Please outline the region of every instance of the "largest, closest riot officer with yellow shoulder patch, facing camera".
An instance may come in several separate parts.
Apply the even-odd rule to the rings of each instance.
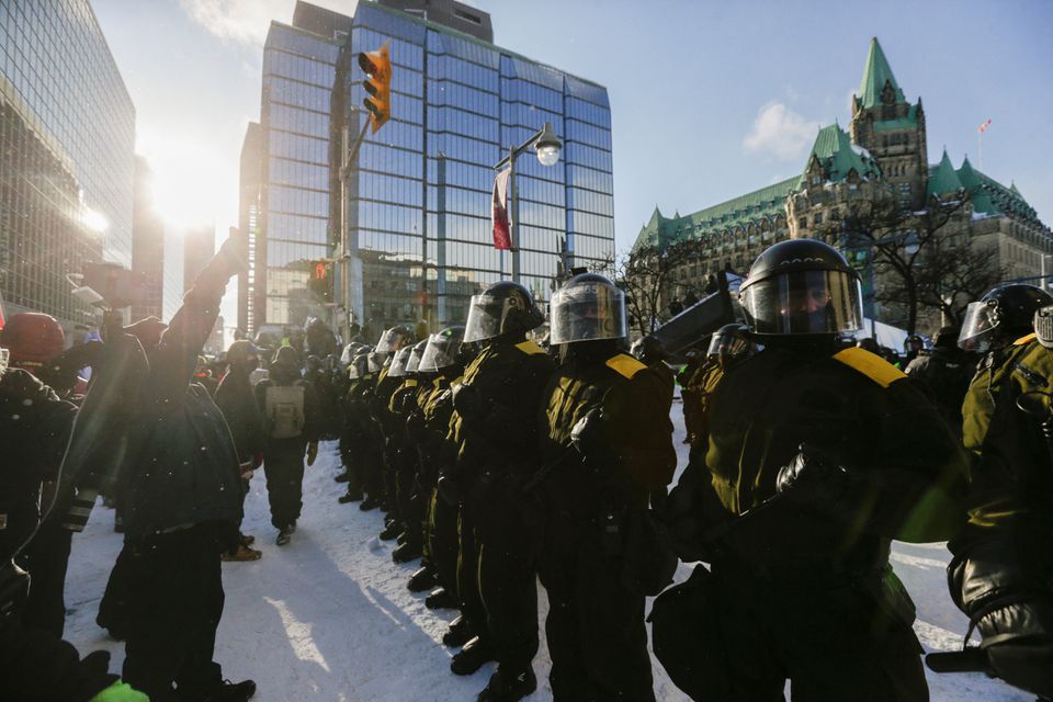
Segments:
[[[912,381],[840,341],[862,304],[833,247],[779,242],[740,290],[765,348],[712,399],[692,554],[712,571],[689,580],[693,616],[658,599],[655,653],[695,699],[782,700],[789,678],[794,700],[927,700],[890,543],[953,532],[965,457]]]

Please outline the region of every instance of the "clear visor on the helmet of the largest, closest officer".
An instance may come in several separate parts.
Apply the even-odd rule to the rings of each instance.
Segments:
[[[836,335],[863,327],[859,280],[843,271],[793,271],[759,281],[740,293],[756,333]]]

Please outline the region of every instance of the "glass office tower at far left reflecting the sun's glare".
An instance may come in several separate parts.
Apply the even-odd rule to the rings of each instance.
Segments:
[[[91,324],[65,280],[132,267],[135,109],[88,0],[0,2],[0,292]]]

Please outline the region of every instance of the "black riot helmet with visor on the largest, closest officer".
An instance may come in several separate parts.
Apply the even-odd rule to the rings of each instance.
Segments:
[[[859,273],[815,239],[768,247],[749,268],[739,302],[758,336],[833,338],[863,326]]]

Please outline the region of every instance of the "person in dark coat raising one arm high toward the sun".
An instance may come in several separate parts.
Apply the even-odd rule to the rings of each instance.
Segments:
[[[227,280],[244,267],[235,239],[199,274],[136,385],[121,476],[128,623],[124,678],[152,702],[247,700],[213,661],[223,614],[219,556],[238,543],[241,479],[223,414],[193,382]],[[121,336],[107,329],[106,342]],[[173,689],[173,683],[178,690]]]

